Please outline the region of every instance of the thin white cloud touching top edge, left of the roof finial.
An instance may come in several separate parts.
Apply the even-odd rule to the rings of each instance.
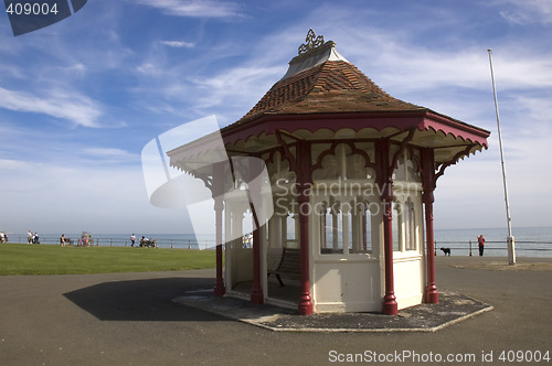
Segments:
[[[214,0],[138,0],[138,3],[160,9],[167,15],[190,18],[243,18],[235,2]]]

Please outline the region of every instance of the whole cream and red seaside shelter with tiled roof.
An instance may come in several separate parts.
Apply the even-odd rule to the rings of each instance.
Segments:
[[[282,79],[220,133],[230,168],[191,163],[210,149],[209,136],[168,152],[213,192],[215,294],[306,315],[394,315],[438,302],[436,182],[487,149],[488,131],[392,97],[310,30]],[[267,172],[256,190],[270,189],[274,213],[263,220],[251,200],[235,200],[261,176],[254,163],[236,173],[245,157]],[[255,220],[252,247],[235,235],[244,220]]]

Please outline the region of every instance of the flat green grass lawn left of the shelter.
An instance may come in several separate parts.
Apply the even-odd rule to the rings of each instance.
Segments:
[[[214,250],[0,244],[0,276],[181,271],[214,267]]]

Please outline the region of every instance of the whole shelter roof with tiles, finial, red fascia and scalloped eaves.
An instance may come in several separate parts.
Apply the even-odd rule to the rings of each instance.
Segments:
[[[240,120],[221,129],[229,153],[259,153],[279,144],[277,131],[296,139],[390,139],[435,150],[439,162],[456,161],[487,148],[489,131],[394,98],[336,50],[315,39],[289,62],[282,79]],[[413,133],[411,133],[413,131]],[[410,136],[410,137],[408,137]],[[202,139],[169,152],[203,149]],[[203,146],[203,147],[202,147]],[[177,151],[178,150],[178,151]],[[195,150],[194,150],[195,151]]]

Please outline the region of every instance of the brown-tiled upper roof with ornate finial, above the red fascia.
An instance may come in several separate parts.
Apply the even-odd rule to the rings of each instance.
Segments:
[[[233,130],[254,126],[255,121],[270,117],[279,119],[283,116],[335,114],[382,116],[404,115],[405,112],[444,117],[457,126],[465,126],[470,130],[476,129],[484,134],[489,134],[486,130],[435,112],[429,108],[392,97],[339,54],[332,41],[311,46],[294,57],[284,77],[274,84],[245,116],[223,128],[222,133],[227,136]]]

